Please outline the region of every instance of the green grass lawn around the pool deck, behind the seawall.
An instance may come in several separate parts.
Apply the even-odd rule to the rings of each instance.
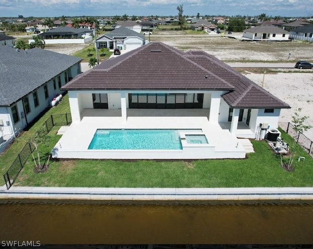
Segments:
[[[22,137],[31,136],[51,114],[69,113],[68,97],[50,108]],[[54,127],[49,146],[41,153],[49,153],[61,137]],[[282,134],[291,144],[291,137]],[[265,141],[252,141],[255,153],[246,159],[210,160],[62,160],[50,161],[45,173],[35,174],[29,157],[14,183],[15,186],[63,187],[312,187],[313,158],[296,145],[297,157],[293,172],[280,166],[280,158],[272,153]],[[0,173],[3,175],[12,164],[24,142],[14,142],[1,156]],[[2,179],[2,185],[4,184]]]

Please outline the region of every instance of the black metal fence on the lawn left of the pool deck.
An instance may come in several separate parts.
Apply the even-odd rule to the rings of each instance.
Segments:
[[[72,122],[70,113],[51,115],[43,127],[46,129],[46,133],[49,133],[54,126],[69,125]],[[14,160],[10,168],[3,175],[6,188],[9,189],[17,177],[19,176],[22,168],[24,167],[29,156],[34,152],[35,147],[31,143],[27,143],[17,158]]]

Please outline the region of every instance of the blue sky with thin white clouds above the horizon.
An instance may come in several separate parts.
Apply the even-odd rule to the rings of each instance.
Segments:
[[[313,16],[313,0],[0,0],[0,17],[176,16],[179,4],[188,16]]]

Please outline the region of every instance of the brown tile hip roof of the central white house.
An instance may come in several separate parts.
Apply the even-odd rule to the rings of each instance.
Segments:
[[[102,62],[64,90],[224,90],[233,108],[290,108],[268,91],[203,51],[149,43]]]

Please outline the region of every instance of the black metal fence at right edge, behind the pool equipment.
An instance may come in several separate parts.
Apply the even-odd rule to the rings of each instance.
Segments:
[[[293,130],[293,125],[290,122],[278,122],[278,126],[290,135],[293,139],[295,139],[296,143],[304,149],[311,158],[313,158],[313,141],[310,140],[307,136],[300,133],[298,136],[296,132]]]

